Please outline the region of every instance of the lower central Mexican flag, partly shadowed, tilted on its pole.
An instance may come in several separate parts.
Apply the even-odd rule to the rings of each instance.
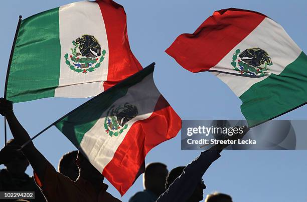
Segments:
[[[155,86],[154,65],[84,103],[56,127],[123,195],[150,149],[171,139],[181,119]]]

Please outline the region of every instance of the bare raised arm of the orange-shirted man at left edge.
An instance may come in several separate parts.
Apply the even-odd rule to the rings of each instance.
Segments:
[[[0,114],[6,116],[14,139],[19,145],[23,145],[31,139],[28,132],[16,118],[13,112],[12,102],[4,98],[0,98]],[[32,168],[35,170],[39,178],[44,179],[46,165],[49,163],[48,160],[39,150],[37,150],[32,141],[22,149],[22,152],[28,158]]]

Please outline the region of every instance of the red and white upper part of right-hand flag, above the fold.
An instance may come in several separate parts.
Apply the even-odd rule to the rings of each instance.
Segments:
[[[301,53],[284,29],[263,14],[216,11],[193,34],[180,35],[166,50],[191,72],[280,74]]]

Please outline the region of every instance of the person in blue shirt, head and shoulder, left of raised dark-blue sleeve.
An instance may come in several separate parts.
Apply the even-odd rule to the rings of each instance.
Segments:
[[[165,191],[167,166],[163,163],[150,163],[146,166],[143,175],[144,190],[135,193],[129,202],[155,202]]]

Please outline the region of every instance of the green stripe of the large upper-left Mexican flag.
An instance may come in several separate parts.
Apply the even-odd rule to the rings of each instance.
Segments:
[[[54,97],[59,85],[59,8],[22,21],[8,80],[7,98],[23,102]]]

